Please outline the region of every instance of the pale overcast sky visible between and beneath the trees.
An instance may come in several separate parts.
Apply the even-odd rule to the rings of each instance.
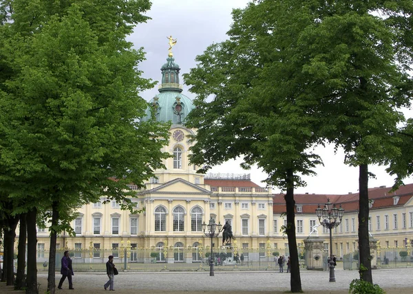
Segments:
[[[173,47],[173,57],[180,65],[180,81],[183,83],[182,74],[188,73],[195,67],[195,56],[204,52],[208,45],[224,41],[226,32],[232,23],[231,11],[233,8],[244,8],[246,0],[153,0],[151,10],[147,13],[152,19],[136,27],[134,34],[129,38],[136,47],[144,47],[147,60],[140,64],[145,78],[160,80],[160,67],[166,63],[168,54],[167,36],[177,38],[178,42]],[[150,100],[158,93],[158,86],[142,93],[142,97]],[[193,99],[188,87],[184,85],[182,94]],[[405,112],[408,117],[413,116],[413,111]],[[344,155],[341,150],[335,154],[334,148],[317,148],[315,152],[321,155],[324,167],[320,166],[315,171],[316,177],[304,177],[307,187],[297,188],[296,193],[315,194],[347,194],[357,192],[359,187],[359,170],[343,164]],[[260,181],[266,179],[266,174],[254,168],[242,170],[240,160],[224,163],[213,168],[211,172],[251,173],[253,181],[264,185]],[[376,174],[377,179],[369,179],[369,187],[386,185],[391,187],[393,178],[385,172],[384,167],[370,166],[370,172]],[[413,178],[405,183],[413,183]],[[280,192],[275,188],[275,192]]]

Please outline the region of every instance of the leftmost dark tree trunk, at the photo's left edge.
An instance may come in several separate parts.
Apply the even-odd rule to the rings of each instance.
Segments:
[[[7,247],[6,256],[6,285],[14,285],[14,238],[16,238],[16,227],[19,223],[19,218],[16,216],[8,216],[8,227],[4,231],[4,247]]]

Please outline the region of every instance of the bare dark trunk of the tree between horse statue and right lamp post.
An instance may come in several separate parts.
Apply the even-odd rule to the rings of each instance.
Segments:
[[[287,192],[284,196],[287,210],[288,247],[290,249],[290,287],[292,293],[302,292],[301,277],[299,275],[297,238],[295,236],[295,200],[294,200],[294,174],[293,170],[287,170]]]

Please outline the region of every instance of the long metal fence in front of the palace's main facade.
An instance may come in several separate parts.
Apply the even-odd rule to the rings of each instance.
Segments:
[[[278,270],[275,249],[213,249],[215,271]],[[60,271],[64,249],[56,251],[56,271]],[[288,256],[288,250],[277,249]],[[108,256],[121,271],[209,271],[211,251],[198,249],[124,249],[124,250],[69,250],[74,271],[106,271]],[[49,251],[37,251],[39,271],[49,266]],[[300,265],[304,267],[304,260]]]

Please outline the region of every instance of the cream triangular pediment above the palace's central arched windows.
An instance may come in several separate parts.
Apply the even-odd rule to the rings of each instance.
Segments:
[[[145,194],[211,194],[211,191],[195,185],[189,181],[178,178],[159,185],[151,190],[146,190]]]

